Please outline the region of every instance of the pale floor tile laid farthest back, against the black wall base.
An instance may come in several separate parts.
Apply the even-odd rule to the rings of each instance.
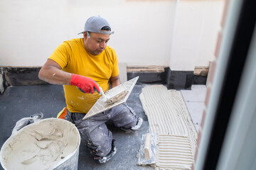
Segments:
[[[204,102],[206,99],[205,85],[192,85],[191,90],[181,90],[185,102]]]

